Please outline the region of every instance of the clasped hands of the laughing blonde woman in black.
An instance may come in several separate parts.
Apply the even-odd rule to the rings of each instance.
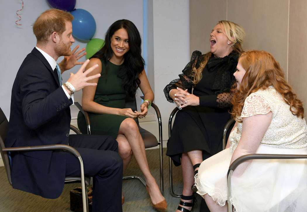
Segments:
[[[174,95],[174,101],[180,108],[184,108],[188,105],[199,105],[199,97],[188,93],[188,89],[183,90],[181,88],[177,88],[177,92]]]

